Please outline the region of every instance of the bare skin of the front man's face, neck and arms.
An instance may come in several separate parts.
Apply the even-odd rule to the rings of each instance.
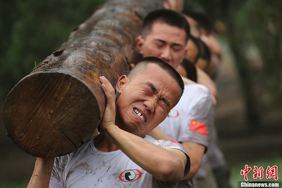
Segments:
[[[187,164],[186,154],[178,149],[166,150],[143,137],[154,129],[176,105],[181,96],[181,88],[158,65],[148,64],[147,66],[143,74],[131,80],[125,75],[119,78],[116,91],[120,96],[117,101],[115,90],[110,82],[104,76],[100,77],[107,105],[98,127],[100,134],[95,137],[94,145],[98,150],[104,152],[120,149],[134,163],[151,173],[156,179],[178,182],[183,178]],[[149,91],[150,86],[146,85],[147,81],[151,82],[158,92]],[[164,104],[164,98],[170,103],[168,107]],[[116,114],[116,106],[119,106],[121,112],[124,112],[121,114],[122,117],[119,117],[120,113]],[[142,110],[146,123],[134,113],[134,107]],[[128,127],[128,124],[134,126]],[[132,130],[139,136],[123,129]],[[154,153],[153,158],[152,153]],[[54,158],[37,158],[28,187],[49,187],[53,165]]]

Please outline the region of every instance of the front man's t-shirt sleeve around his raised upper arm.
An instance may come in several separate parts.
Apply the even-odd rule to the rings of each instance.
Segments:
[[[162,148],[164,148],[166,150],[167,149],[179,149],[184,154],[186,154],[186,156],[187,156],[187,164],[186,164],[185,169],[184,169],[184,175],[183,175],[182,180],[185,179],[187,177],[188,173],[190,172],[190,167],[191,167],[190,165],[191,164],[190,164],[190,157],[188,156],[187,151],[184,148],[184,146],[181,145],[179,142],[176,142],[174,140],[166,140],[166,141],[159,140],[159,141],[163,141],[163,142],[161,142],[161,144],[159,146],[161,146]]]

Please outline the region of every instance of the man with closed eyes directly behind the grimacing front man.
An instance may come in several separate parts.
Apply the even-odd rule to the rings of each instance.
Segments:
[[[177,68],[186,55],[189,36],[189,25],[183,15],[172,10],[155,10],[144,19],[141,35],[136,39],[137,50],[143,57],[154,55]],[[179,183],[182,187],[193,187],[191,180],[208,147],[213,118],[213,100],[208,88],[189,84],[185,85],[176,108],[160,124],[164,132],[156,129],[150,133],[156,139],[172,138],[182,142],[187,149],[191,170],[185,181]]]

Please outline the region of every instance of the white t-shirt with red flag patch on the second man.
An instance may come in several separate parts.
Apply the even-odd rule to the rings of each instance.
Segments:
[[[185,85],[177,105],[158,127],[178,142],[194,142],[207,149],[214,127],[211,93],[200,84]],[[194,187],[192,181],[181,181],[177,187]]]

